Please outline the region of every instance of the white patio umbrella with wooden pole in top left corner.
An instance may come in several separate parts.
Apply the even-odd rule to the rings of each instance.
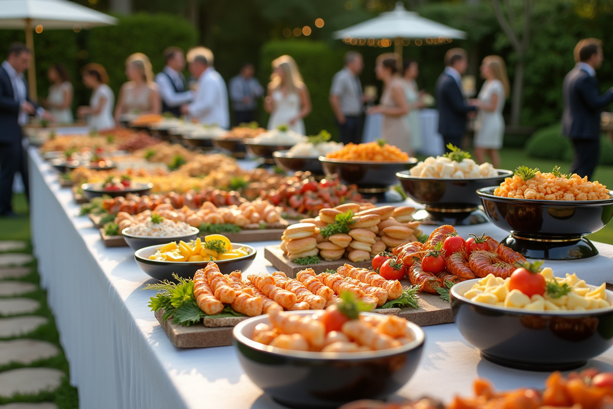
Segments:
[[[117,19],[67,0],[0,0],[0,29],[25,29],[26,45],[32,50],[28,69],[29,92],[36,99],[36,67],[32,29],[74,29],[116,25]],[[58,44],[61,47],[61,44]]]

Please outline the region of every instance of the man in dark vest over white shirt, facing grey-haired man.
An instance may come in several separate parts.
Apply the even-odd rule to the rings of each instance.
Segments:
[[[183,76],[185,56],[178,47],[168,47],[164,50],[166,66],[155,77],[162,99],[162,112],[170,112],[175,117],[181,115],[181,105],[192,101],[193,93],[188,90],[188,84]]]

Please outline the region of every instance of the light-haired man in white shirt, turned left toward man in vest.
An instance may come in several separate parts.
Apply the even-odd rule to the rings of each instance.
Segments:
[[[228,129],[230,112],[226,82],[213,68],[213,53],[205,47],[192,48],[188,52],[189,72],[198,78],[194,101],[181,106],[181,113],[189,114],[200,123]]]

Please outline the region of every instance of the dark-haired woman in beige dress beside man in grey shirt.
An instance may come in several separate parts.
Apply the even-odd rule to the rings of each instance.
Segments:
[[[406,104],[402,78],[398,76],[398,60],[395,54],[379,55],[375,67],[376,77],[383,81],[383,94],[379,105],[372,107],[368,113],[382,113],[381,139],[387,140],[404,152],[411,152],[411,131],[405,120],[409,112]]]

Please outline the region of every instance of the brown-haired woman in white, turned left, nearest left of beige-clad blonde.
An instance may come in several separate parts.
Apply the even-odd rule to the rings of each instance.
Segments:
[[[83,84],[91,88],[92,93],[89,98],[89,106],[78,108],[79,117],[87,117],[87,124],[92,131],[115,128],[115,120],[113,120],[115,95],[107,85],[109,82],[107,71],[100,64],[91,63],[83,67],[81,73]]]

